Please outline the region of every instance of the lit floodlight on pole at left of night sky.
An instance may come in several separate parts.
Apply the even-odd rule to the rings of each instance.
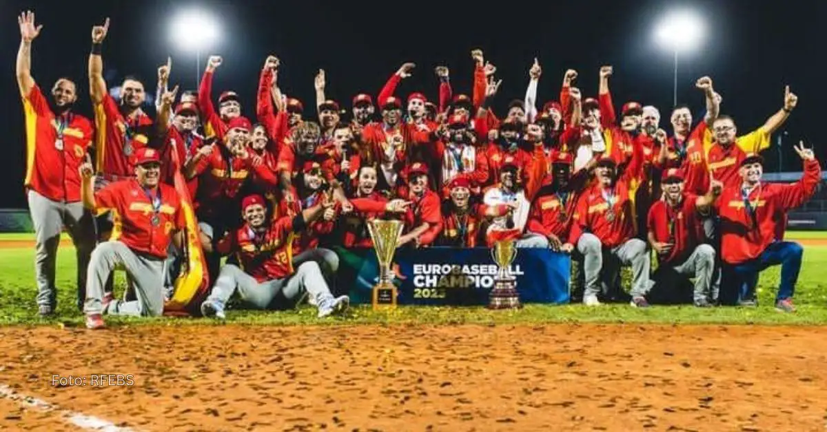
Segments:
[[[218,40],[218,21],[203,9],[181,11],[170,23],[170,38],[180,50],[195,54],[195,88],[201,82],[201,51]]]

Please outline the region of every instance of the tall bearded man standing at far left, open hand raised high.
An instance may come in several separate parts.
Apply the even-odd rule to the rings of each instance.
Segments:
[[[95,243],[92,215],[80,202],[79,166],[93,137],[92,122],[72,111],[77,88],[60,78],[51,89],[52,102],[31,77],[31,42],[40,35],[33,12],[17,17],[17,85],[26,115],[26,197],[35,227],[37,306],[42,316],[55,311],[55,261],[65,226],[77,255],[78,306],[86,293],[86,267]]]

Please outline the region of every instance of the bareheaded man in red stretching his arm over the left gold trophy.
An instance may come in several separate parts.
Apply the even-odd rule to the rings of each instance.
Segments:
[[[367,224],[385,213],[404,213],[410,202],[403,200],[388,201],[376,192],[376,169],[372,165],[362,165],[357,172],[356,193],[349,197],[352,209],[342,209],[339,222],[342,245],[346,248],[372,248]]]

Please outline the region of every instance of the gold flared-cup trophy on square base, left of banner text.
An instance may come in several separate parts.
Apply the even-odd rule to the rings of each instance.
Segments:
[[[394,259],[396,242],[399,241],[404,224],[402,221],[374,219],[368,222],[367,228],[379,262],[379,282],[373,286],[373,309],[393,309],[396,307],[396,286],[390,263]]]

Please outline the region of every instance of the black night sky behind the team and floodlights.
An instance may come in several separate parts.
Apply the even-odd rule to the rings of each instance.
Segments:
[[[214,97],[225,89],[242,97],[243,111],[255,121],[254,96],[266,55],[282,60],[280,87],[299,97],[305,116],[314,116],[313,76],[327,72],[327,97],[350,107],[353,95],[375,95],[404,61],[417,64],[414,76],[399,87],[398,95],[423,91],[437,97],[433,67],[451,69],[454,92],[470,93],[473,62],[469,52],[479,47],[504,80],[495,108],[502,114],[514,98],[523,98],[528,68],[537,56],[543,65],[539,103],[557,99],[562,74],[580,73],[576,85],[585,96],[596,96],[601,64],[614,66],[611,88],[614,102],[637,100],[661,110],[661,126],[670,130],[672,107],[672,55],[653,41],[657,17],[680,7],[696,9],[706,20],[705,41],[691,55],[682,56],[678,75],[678,101],[689,103],[696,116],[703,96],[694,88],[696,78],[709,74],[724,97],[721,112],[733,116],[739,131],[762,125],[782,107],[784,84],[799,96],[799,104],[782,127],[785,138],[784,169],[799,170],[790,148],[804,138],[825,158],[825,145],[814,140],[823,124],[816,101],[825,101],[823,31],[827,2],[695,1],[636,2],[321,2],[275,1],[18,1],[0,2],[0,59],[7,68],[0,76],[2,147],[6,166],[0,181],[7,185],[0,207],[26,207],[22,182],[25,141],[22,104],[14,63],[20,43],[17,15],[31,9],[41,36],[33,45],[32,74],[43,88],[68,76],[79,83],[77,109],[91,115],[88,99],[87,60],[94,24],[112,19],[103,47],[109,87],[125,74],[138,74],[154,93],[157,67],[173,58],[171,81],[184,89],[196,88],[195,56],[177,50],[170,42],[169,21],[179,9],[198,5],[221,21],[222,38],[210,54],[219,54]],[[116,6],[117,5],[117,6]],[[759,6],[761,5],[761,6]],[[208,53],[202,55],[203,61]],[[773,136],[773,145],[777,136]],[[767,171],[777,170],[777,151],[771,149]]]

